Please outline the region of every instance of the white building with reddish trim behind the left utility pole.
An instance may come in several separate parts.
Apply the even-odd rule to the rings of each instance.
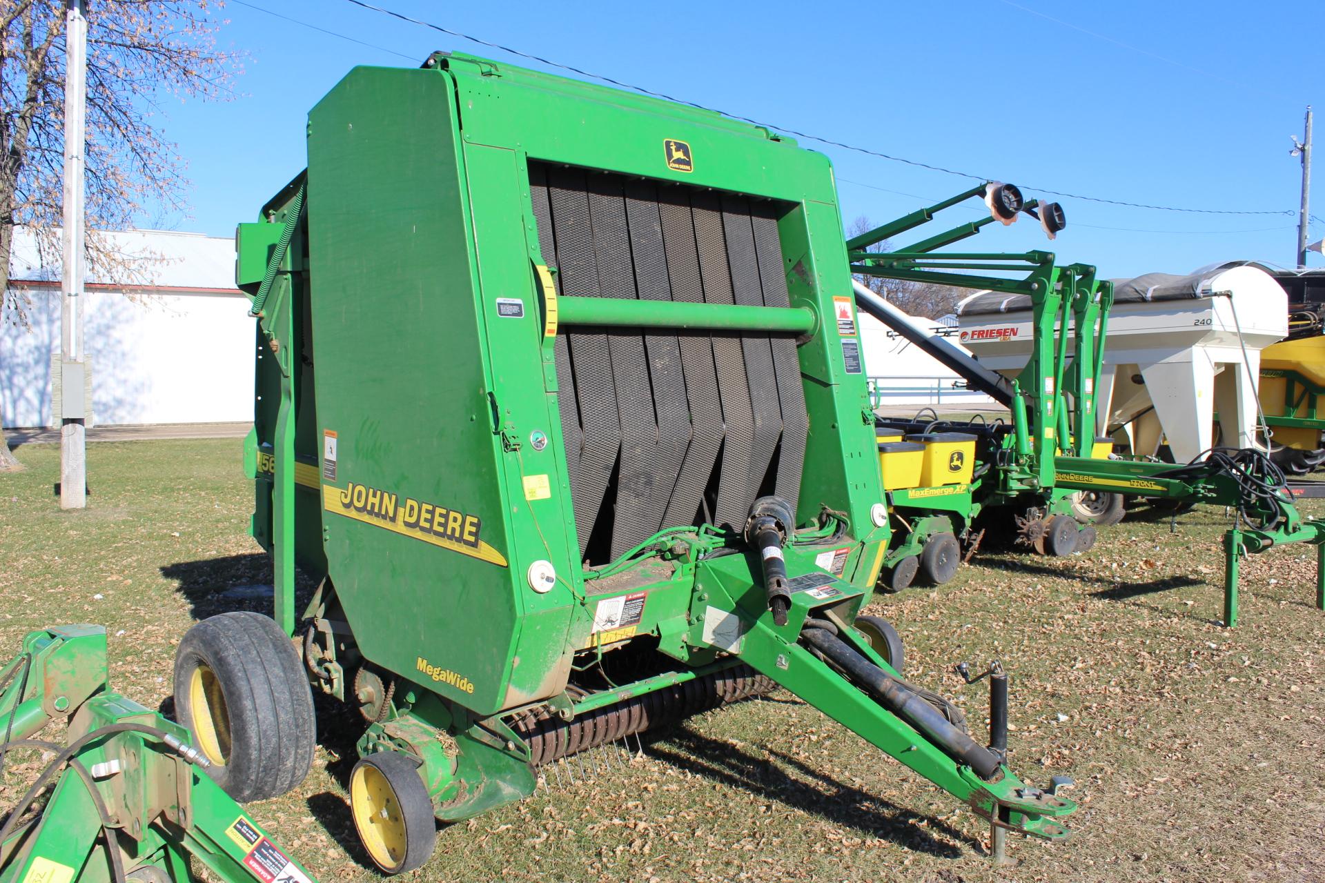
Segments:
[[[129,267],[118,275],[131,282],[87,282],[93,422],[252,421],[256,332],[235,287],[235,241],[162,230],[102,236]],[[16,233],[9,287],[26,322],[8,303],[0,312],[0,418],[8,428],[60,424],[50,384],[60,256],[40,252],[29,230]]]

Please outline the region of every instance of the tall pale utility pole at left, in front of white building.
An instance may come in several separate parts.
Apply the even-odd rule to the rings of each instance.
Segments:
[[[60,304],[60,508],[87,504],[83,408],[83,151],[87,140],[87,4],[65,13],[64,293]]]

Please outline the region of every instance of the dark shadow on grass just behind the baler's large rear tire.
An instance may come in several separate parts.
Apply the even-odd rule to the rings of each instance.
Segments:
[[[189,602],[195,620],[231,610],[273,614],[272,559],[261,552],[176,561],[163,565],[160,572],[175,581],[175,590]],[[297,612],[303,610],[314,588],[311,580],[297,572]]]

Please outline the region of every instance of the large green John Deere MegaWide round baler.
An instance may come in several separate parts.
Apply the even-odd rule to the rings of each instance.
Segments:
[[[772,684],[1000,834],[1065,835],[1075,805],[857,620],[889,527],[823,156],[445,54],[355,69],[307,144],[238,230],[252,530],[305,674],[363,714],[378,864],[417,867],[435,817],[530,794],[542,764]],[[321,580],[303,610],[295,564]],[[264,703],[298,686],[248,690],[252,637],[197,629],[212,680],[176,680],[182,715],[229,745],[229,788],[289,788],[311,723]]]

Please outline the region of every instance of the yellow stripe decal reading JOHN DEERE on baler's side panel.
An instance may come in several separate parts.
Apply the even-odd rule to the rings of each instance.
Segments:
[[[480,561],[506,567],[502,553],[478,539],[481,523],[474,515],[420,503],[409,496],[400,500],[396,494],[352,482],[344,488],[323,485],[322,508]]]

